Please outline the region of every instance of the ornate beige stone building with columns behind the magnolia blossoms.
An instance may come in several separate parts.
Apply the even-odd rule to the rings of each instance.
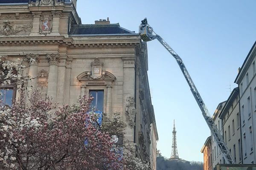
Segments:
[[[23,54],[36,59],[24,71],[35,78],[28,87],[41,89],[58,105],[91,94],[103,121],[119,111],[128,124],[124,140],[156,169],[147,44],[139,34],[109,19],[82,24],[76,0],[0,0],[0,55],[15,60]],[[9,88],[1,90],[6,104],[16,95],[15,87]]]

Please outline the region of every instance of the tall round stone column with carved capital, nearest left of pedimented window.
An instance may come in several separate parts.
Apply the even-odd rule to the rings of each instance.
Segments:
[[[47,54],[49,61],[49,77],[47,95],[52,97],[52,102],[56,101],[57,94],[57,78],[58,78],[58,62],[60,60],[58,54]]]

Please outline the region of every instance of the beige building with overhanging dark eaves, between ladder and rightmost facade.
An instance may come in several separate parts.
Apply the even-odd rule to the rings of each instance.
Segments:
[[[223,121],[224,142],[227,144],[236,164],[242,164],[239,88],[234,88],[219,117]],[[222,163],[225,163],[224,158]]]

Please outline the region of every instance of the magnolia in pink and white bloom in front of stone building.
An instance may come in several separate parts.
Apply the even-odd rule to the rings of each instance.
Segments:
[[[2,71],[1,83],[19,84],[29,79],[17,76],[21,64],[8,62],[12,67],[5,62],[0,62],[7,70]],[[11,74],[14,70],[16,73]],[[113,135],[125,135],[120,114],[113,113],[113,119],[100,125],[97,116],[89,112],[92,100],[83,96],[76,105],[55,108],[49,97],[36,90],[29,96],[23,91],[11,107],[2,106],[0,169],[150,170],[148,164],[134,157],[133,147],[113,140]]]

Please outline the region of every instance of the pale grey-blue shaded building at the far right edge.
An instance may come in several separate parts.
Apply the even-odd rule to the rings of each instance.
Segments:
[[[241,143],[243,164],[256,164],[256,42],[239,68],[235,83],[239,86]]]

